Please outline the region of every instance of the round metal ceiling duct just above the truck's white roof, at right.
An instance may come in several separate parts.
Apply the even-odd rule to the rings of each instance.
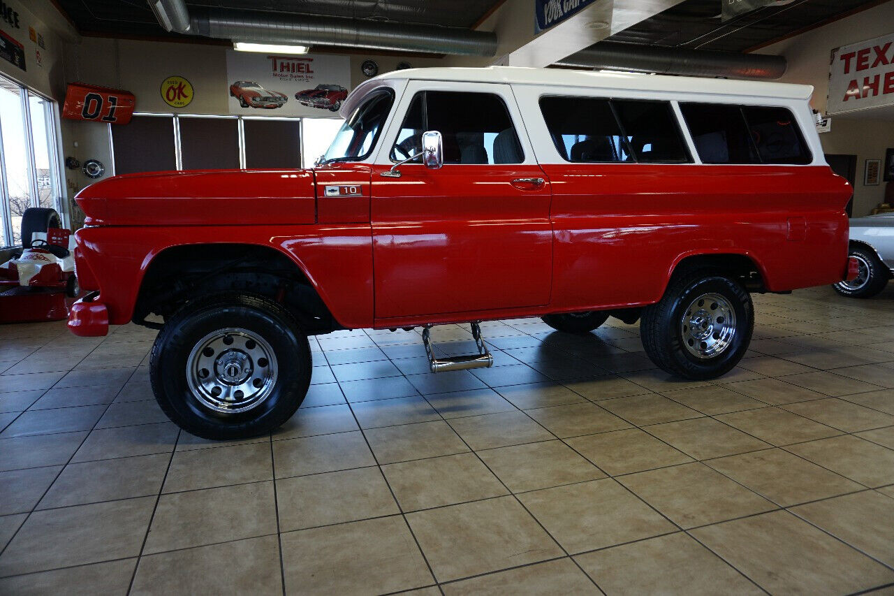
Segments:
[[[601,41],[555,64],[574,68],[739,79],[779,79],[788,68],[785,57],[780,55],[640,46],[617,41]]]

